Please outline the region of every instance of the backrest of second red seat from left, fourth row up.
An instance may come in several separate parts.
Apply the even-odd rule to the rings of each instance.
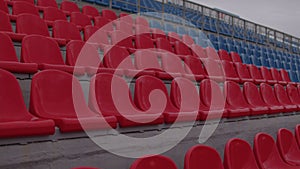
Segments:
[[[28,35],[50,36],[47,24],[38,16],[21,14],[17,17],[17,32]]]

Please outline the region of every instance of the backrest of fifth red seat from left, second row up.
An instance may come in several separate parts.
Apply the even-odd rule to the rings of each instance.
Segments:
[[[172,103],[182,112],[198,112],[200,97],[195,84],[183,77],[173,79],[170,98]],[[195,116],[196,120],[196,116]]]

